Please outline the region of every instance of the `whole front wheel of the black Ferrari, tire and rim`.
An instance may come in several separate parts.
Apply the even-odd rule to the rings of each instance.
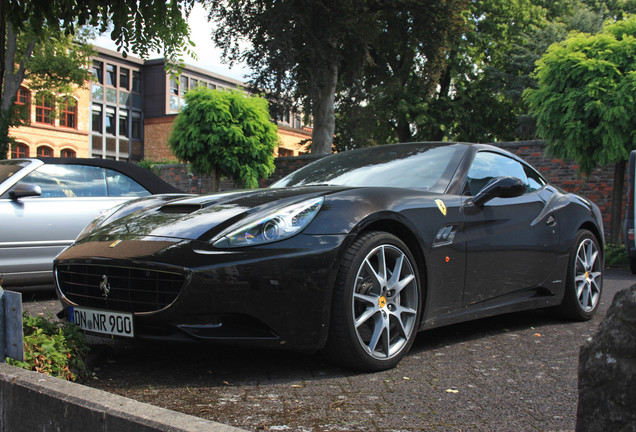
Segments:
[[[397,365],[419,327],[419,280],[415,259],[400,239],[380,231],[359,237],[338,271],[327,356],[365,371]]]

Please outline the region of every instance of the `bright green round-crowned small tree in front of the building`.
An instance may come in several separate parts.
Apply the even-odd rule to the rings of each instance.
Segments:
[[[168,143],[195,172],[213,175],[214,191],[221,176],[254,188],[274,172],[279,139],[266,99],[199,87],[188,91],[185,100]]]

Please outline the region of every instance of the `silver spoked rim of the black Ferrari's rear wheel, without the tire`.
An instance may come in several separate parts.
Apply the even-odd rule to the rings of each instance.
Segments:
[[[596,308],[601,296],[601,260],[596,243],[584,239],[576,251],[574,283],[579,305],[585,312]]]

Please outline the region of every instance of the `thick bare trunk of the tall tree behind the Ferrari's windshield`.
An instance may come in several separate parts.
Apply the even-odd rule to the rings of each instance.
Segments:
[[[324,73],[318,76],[316,97],[313,100],[314,130],[311,136],[313,154],[331,153],[333,135],[336,130],[334,104],[336,84],[338,82],[338,64],[336,61],[324,65]]]

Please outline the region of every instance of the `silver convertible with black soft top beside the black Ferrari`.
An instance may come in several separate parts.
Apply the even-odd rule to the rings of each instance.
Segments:
[[[178,193],[150,171],[104,159],[0,161],[0,280],[53,286],[53,258],[100,213],[135,197]]]

